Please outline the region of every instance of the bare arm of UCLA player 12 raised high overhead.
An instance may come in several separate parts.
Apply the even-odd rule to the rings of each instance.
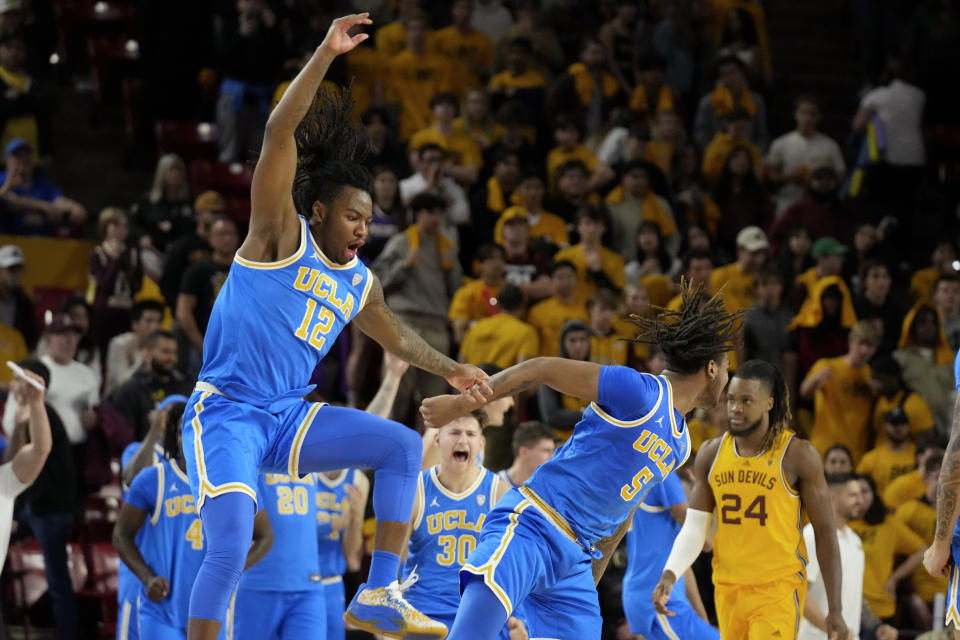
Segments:
[[[366,33],[354,36],[348,34],[356,25],[372,24],[368,15],[358,13],[333,21],[323,42],[290,83],[279,104],[270,114],[250,189],[249,237],[276,240],[285,225],[291,228],[294,226],[292,223],[296,221],[296,209],[291,196],[293,177],[297,170],[297,143],[294,132],[310,110],[317,89],[333,59],[347,53],[369,37]],[[308,212],[304,214],[309,215]]]

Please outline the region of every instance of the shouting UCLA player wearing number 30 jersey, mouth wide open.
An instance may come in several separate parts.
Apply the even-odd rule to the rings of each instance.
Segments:
[[[476,462],[483,451],[484,413],[474,411],[434,436],[440,463],[420,474],[413,503],[407,601],[434,620],[453,623],[460,604],[460,568],[477,546],[483,521],[509,485]],[[526,639],[511,618],[500,637]]]

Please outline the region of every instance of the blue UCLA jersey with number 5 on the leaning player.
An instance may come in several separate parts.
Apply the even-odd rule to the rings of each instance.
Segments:
[[[603,367],[597,397],[573,436],[520,489],[560,516],[587,548],[612,535],[690,455],[684,418],[663,376]]]

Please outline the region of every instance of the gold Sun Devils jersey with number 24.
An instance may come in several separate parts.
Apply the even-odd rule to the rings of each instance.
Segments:
[[[806,578],[800,494],[783,476],[783,456],[792,438],[785,431],[768,451],[747,458],[737,453],[733,436],[723,434],[709,476],[717,503],[715,583]]]

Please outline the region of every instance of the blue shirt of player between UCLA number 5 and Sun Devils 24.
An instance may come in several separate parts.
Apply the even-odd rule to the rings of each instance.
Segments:
[[[680,523],[670,515],[670,507],[686,502],[683,486],[676,474],[668,475],[661,484],[650,489],[640,504],[630,530],[627,532],[627,572],[623,576],[624,600],[629,596],[631,605],[649,613],[656,614],[650,594],[660,581],[667,556],[673,548],[673,541],[680,532]],[[670,601],[686,600],[683,576],[670,593]],[[649,609],[649,611],[647,611]],[[642,629],[633,629],[642,633]]]

